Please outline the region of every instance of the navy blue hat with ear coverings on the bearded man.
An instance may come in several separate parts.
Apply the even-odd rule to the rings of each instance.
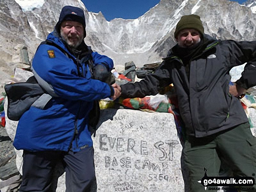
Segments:
[[[84,29],[86,27],[84,11],[79,7],[72,7],[68,5],[62,8],[58,23],[55,26],[58,33],[60,33],[61,23],[65,20],[77,21],[83,25]],[[86,32],[84,34],[84,37],[85,36]]]

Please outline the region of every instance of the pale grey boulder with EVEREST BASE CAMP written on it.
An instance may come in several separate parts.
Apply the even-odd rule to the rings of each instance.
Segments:
[[[17,121],[6,121],[13,139]],[[184,191],[182,146],[172,114],[106,109],[98,126],[93,138],[98,191]],[[22,174],[22,150],[16,152]],[[57,192],[65,192],[65,174],[58,179]]]

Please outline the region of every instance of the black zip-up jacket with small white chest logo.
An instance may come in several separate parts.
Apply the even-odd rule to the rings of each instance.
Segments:
[[[187,135],[198,138],[247,122],[239,99],[229,93],[229,71],[248,62],[237,83],[244,88],[256,85],[256,41],[215,40],[205,36],[200,46],[203,49],[188,63],[189,76],[174,46],[154,74],[140,82],[122,85],[122,96],[155,95],[160,88],[173,83]]]

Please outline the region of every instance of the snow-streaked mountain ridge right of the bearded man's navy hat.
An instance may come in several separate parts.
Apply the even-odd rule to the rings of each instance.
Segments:
[[[161,0],[135,20],[108,22],[101,13],[89,12],[86,41],[117,64],[157,62],[175,44],[173,34],[182,15],[201,16],[205,33],[216,38],[253,40],[256,15],[251,9],[229,0]]]

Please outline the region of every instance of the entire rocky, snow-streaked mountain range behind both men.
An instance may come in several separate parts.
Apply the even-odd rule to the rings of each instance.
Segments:
[[[229,0],[161,0],[135,20],[106,21],[101,12],[88,12],[80,0],[0,0],[1,60],[12,60],[14,47],[28,47],[30,58],[45,40],[61,8],[72,5],[85,11],[85,42],[94,51],[112,57],[115,64],[134,61],[137,66],[159,62],[175,44],[174,30],[182,15],[198,14],[205,33],[233,40],[256,39],[256,1],[244,5]]]

